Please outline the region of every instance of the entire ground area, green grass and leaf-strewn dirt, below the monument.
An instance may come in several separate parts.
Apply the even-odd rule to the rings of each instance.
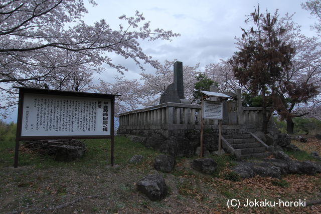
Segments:
[[[307,212],[316,213],[321,205],[307,207],[245,207],[228,208],[229,199],[254,201],[314,200],[321,197],[321,174],[291,174],[275,179],[253,177],[239,180],[231,173],[235,165],[228,155],[213,156],[218,169],[204,175],[190,168],[193,158],[177,158],[172,173],[153,169],[159,153],[121,136],[115,137],[115,164],[110,163],[109,140],[86,140],[87,153],[76,161],[57,162],[20,149],[18,169],[14,169],[14,141],[0,141],[0,213],[195,213],[195,212]],[[319,141],[295,144],[308,152],[321,152]],[[129,164],[130,157],[141,154],[139,164]],[[306,159],[302,154],[292,158]],[[136,182],[144,175],[161,173],[169,187],[169,195],[161,201],[150,201],[136,190]],[[64,206],[63,204],[67,204]],[[63,205],[63,206],[62,206]]]

